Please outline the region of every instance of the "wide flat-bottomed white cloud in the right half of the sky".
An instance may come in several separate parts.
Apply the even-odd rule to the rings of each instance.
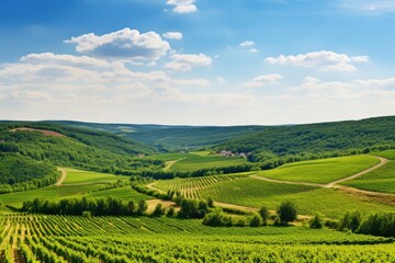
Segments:
[[[357,68],[353,62],[366,62],[369,61],[369,57],[349,57],[346,54],[321,50],[296,56],[280,55],[279,57],[268,57],[264,61],[273,65],[317,68],[319,70],[354,71]]]

